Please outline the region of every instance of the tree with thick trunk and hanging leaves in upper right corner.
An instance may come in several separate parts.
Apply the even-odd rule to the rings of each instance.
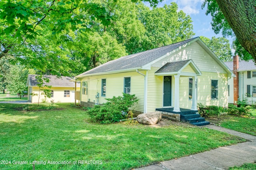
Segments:
[[[256,59],[256,12],[255,0],[205,0],[202,8],[207,5],[206,15],[212,15],[212,28],[217,34],[222,29],[223,35],[236,35],[238,42]],[[232,31],[231,31],[231,29]],[[238,45],[236,45],[238,46]],[[244,50],[237,50],[245,52]],[[248,54],[240,54],[248,60]],[[255,60],[256,61],[256,60]]]

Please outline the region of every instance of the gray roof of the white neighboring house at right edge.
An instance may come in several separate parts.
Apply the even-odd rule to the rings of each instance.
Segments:
[[[234,70],[234,67],[233,67],[233,62],[230,61],[230,62],[224,62],[226,64],[226,66],[228,66],[228,68],[230,70]],[[254,64],[254,61],[253,60],[249,60],[249,61],[239,61],[239,64],[238,64],[238,71],[246,71],[246,70],[256,70],[256,66]]]

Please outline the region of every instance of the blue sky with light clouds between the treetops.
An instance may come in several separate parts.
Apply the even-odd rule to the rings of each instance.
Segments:
[[[194,37],[205,36],[212,39],[215,37],[222,37],[222,34],[215,34],[212,30],[211,21],[212,16],[208,14],[206,16],[206,7],[202,9],[202,4],[204,0],[163,0],[158,3],[158,7],[163,7],[164,4],[170,5],[171,2],[176,2],[179,9],[183,10],[186,15],[190,15],[193,21]],[[150,6],[148,2],[145,3]]]

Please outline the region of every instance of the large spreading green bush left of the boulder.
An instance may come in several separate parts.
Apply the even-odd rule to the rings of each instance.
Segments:
[[[130,95],[124,93],[123,96],[114,96],[106,100],[108,102],[102,105],[96,105],[94,108],[86,111],[93,122],[100,122],[102,124],[119,122],[121,119],[126,118],[129,108],[138,102],[135,94]]]

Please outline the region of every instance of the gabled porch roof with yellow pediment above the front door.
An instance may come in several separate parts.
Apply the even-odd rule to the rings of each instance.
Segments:
[[[189,69],[191,68],[191,69]],[[202,72],[196,64],[190,60],[168,62],[155,72],[156,76],[180,75],[180,76],[201,76]]]

